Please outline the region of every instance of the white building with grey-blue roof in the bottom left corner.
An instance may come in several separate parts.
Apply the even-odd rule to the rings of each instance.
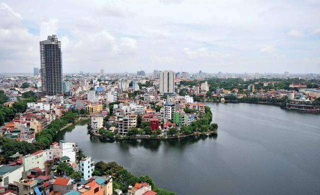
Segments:
[[[0,165],[0,187],[7,186],[13,181],[19,181],[22,177],[23,166]]]

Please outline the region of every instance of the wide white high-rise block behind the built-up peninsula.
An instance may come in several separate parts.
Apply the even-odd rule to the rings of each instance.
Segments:
[[[174,93],[174,71],[164,70],[160,72],[160,93]]]

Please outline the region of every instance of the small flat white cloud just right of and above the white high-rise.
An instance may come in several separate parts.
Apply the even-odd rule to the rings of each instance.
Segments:
[[[210,51],[206,47],[201,47],[195,50],[190,48],[183,48],[183,52],[191,59],[194,58],[216,58],[216,57],[230,57],[229,53],[219,53]]]

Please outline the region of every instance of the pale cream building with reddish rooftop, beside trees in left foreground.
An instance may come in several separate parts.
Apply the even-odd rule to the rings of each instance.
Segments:
[[[35,167],[44,168],[46,161],[46,153],[43,150],[38,150],[34,153],[27,154],[22,157],[23,170],[29,170]]]

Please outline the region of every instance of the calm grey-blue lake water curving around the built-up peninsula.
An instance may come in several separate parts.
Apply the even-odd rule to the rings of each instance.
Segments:
[[[95,161],[149,174],[177,194],[320,194],[320,116],[277,106],[207,103],[217,135],[106,142],[77,124],[58,139]]]

